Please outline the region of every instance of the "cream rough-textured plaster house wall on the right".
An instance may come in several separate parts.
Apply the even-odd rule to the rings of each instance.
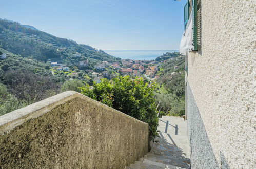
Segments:
[[[215,157],[255,168],[255,6],[201,1],[202,50],[188,55],[188,81]]]

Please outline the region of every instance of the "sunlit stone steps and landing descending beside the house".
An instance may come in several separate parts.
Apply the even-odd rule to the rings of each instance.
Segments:
[[[151,151],[128,168],[190,168],[187,121],[180,117],[162,116],[158,143],[150,143]]]

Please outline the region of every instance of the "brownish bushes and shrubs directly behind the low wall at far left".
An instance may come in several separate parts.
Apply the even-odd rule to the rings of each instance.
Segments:
[[[29,71],[8,71],[4,83],[0,83],[0,115],[53,96],[60,88],[52,77]]]

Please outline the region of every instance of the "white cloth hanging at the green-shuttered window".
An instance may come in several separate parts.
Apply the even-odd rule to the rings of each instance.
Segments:
[[[190,13],[186,31],[183,33],[180,44],[180,54],[187,55],[193,49],[193,12]]]

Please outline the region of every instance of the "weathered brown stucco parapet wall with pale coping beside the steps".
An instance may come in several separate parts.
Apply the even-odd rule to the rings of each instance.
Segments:
[[[148,153],[148,124],[73,91],[0,116],[0,131],[3,168],[124,168]]]

